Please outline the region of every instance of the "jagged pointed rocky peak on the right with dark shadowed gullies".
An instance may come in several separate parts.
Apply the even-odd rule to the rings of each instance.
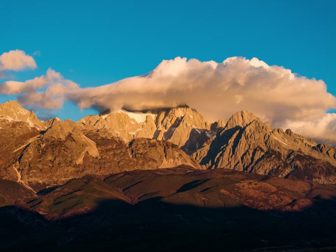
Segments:
[[[336,183],[335,148],[316,144],[289,129],[272,129],[246,111],[233,114],[224,129],[193,157],[210,169]]]

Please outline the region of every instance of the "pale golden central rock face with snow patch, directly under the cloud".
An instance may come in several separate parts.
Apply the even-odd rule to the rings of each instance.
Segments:
[[[87,129],[105,129],[125,142],[136,138],[167,140],[187,153],[195,151],[199,143],[213,136],[210,124],[188,106],[143,112],[107,112],[86,116],[79,123]]]

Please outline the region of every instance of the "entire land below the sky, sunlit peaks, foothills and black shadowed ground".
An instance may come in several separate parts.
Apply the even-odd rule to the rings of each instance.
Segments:
[[[335,251],[335,197],[336,148],[247,111],[0,104],[1,251]]]

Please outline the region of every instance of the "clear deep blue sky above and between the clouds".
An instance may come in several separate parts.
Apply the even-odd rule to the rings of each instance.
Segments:
[[[2,0],[0,9],[0,54],[20,49],[38,66],[13,72],[13,80],[51,67],[81,87],[98,86],[175,56],[217,62],[245,56],[322,79],[336,94],[333,0]],[[12,98],[0,95],[0,102]],[[77,120],[94,111],[66,103],[53,113]]]

